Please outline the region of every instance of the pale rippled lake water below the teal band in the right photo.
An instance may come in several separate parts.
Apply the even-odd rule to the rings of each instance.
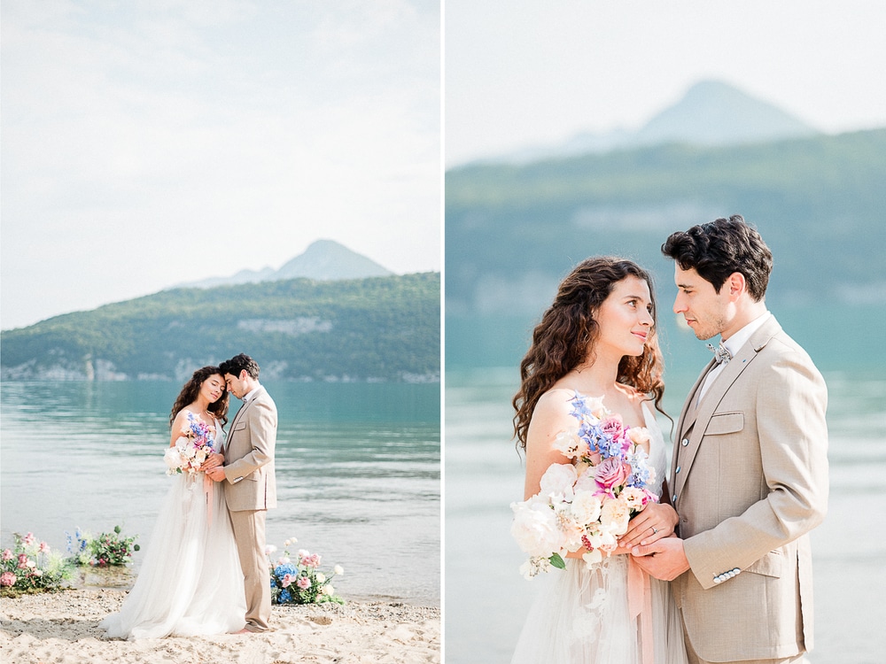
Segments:
[[[831,493],[828,518],[812,533],[812,664],[886,660],[884,373],[825,372]],[[676,418],[695,374],[666,378],[665,408]],[[526,581],[517,571],[524,557],[509,532],[509,504],[523,499],[524,464],[511,440],[517,380],[516,368],[447,369],[447,664],[509,662],[540,588],[540,580]],[[670,423],[661,424],[667,434]]]

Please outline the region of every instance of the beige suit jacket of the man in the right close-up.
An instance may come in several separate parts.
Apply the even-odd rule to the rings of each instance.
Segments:
[[[704,660],[812,649],[809,531],[828,506],[828,392],[774,317],[680,413],[668,486],[690,570],[672,583]]]

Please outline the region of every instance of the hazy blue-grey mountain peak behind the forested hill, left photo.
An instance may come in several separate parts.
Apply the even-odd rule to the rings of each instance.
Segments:
[[[279,282],[284,279],[305,277],[320,282],[342,279],[363,279],[373,276],[390,276],[390,270],[374,260],[351,251],[334,240],[315,240],[304,253],[289,260],[279,270],[264,267],[260,270],[241,270],[228,277],[210,277],[199,282],[183,283],[175,288],[207,289],[215,286],[232,286],[238,283]]]

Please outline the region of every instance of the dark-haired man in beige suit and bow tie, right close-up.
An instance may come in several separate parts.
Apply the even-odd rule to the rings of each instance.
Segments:
[[[812,650],[809,531],[828,505],[828,393],[766,310],[772,253],[741,216],[671,235],[681,313],[715,359],[680,413],[668,486],[680,537],[634,547],[672,589],[689,661],[800,662]]]

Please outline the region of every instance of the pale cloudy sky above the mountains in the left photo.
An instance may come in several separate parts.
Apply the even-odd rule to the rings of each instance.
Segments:
[[[430,0],[3,0],[0,327],[330,238],[440,268]]]

